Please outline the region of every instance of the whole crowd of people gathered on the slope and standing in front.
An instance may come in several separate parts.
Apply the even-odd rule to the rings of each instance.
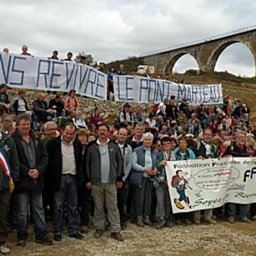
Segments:
[[[126,74],[124,66],[119,71]],[[66,225],[69,237],[83,239],[91,216],[95,238],[110,230],[117,241],[124,240],[127,223],[160,229],[202,219],[214,225],[225,216],[234,223],[237,209],[241,221],[256,220],[255,204],[250,212],[230,203],[173,214],[164,168],[167,161],[255,156],[256,129],[246,102],[227,95],[218,106],[190,106],[172,96],[152,105],[148,116],[141,105],[125,103],[110,124],[99,106],[83,118],[75,90],[63,97],[56,92],[47,102],[38,93],[28,102],[20,89],[10,99],[8,86],[0,85],[0,253],[10,254],[10,229],[17,230],[17,245],[26,246],[29,221],[35,242],[52,245],[48,221],[58,243]],[[189,205],[182,193],[186,182],[177,179],[173,186],[180,195],[176,206]]]

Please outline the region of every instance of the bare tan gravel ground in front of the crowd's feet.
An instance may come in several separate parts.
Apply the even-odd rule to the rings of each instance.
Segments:
[[[16,246],[15,233],[11,233],[8,246],[13,256],[240,256],[256,255],[256,222],[250,224],[237,221],[229,224],[218,221],[217,225],[175,226],[156,230],[152,227],[140,228],[129,224],[122,234],[125,241],[120,243],[105,232],[100,239],[93,238],[94,230],[85,235],[83,241],[67,237],[53,246],[33,242],[33,230],[29,228],[29,242],[24,248]],[[49,236],[52,236],[51,230]]]

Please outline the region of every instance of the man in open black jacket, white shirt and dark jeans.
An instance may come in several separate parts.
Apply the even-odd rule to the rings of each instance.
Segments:
[[[51,173],[51,188],[54,202],[54,240],[61,241],[63,207],[66,199],[68,211],[68,236],[83,239],[78,232],[77,224],[77,191],[78,183],[83,183],[81,172],[82,147],[75,139],[76,126],[67,123],[62,128],[62,134],[47,143],[49,164],[47,170]],[[85,188],[84,188],[85,189]]]

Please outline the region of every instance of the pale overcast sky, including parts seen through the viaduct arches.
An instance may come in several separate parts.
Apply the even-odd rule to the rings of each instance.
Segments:
[[[35,56],[64,58],[85,51],[109,62],[256,24],[255,0],[1,0],[0,47]],[[217,70],[254,75],[252,54],[243,44],[221,54]],[[184,56],[174,70],[196,68]]]

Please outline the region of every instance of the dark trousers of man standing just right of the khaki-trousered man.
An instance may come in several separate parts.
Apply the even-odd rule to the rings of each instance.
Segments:
[[[117,207],[120,214],[121,225],[127,221],[127,199],[130,189],[129,179],[123,182],[123,186],[117,189]]]

